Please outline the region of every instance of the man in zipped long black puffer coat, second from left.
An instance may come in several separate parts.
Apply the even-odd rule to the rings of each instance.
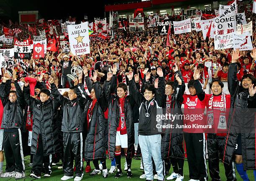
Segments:
[[[42,80],[40,79],[40,82]],[[44,176],[51,176],[52,154],[60,151],[58,132],[56,127],[56,111],[60,104],[50,99],[50,91],[41,89],[40,100],[30,96],[28,83],[25,82],[23,94],[26,103],[31,107],[33,114],[31,154],[33,154],[33,167],[30,176],[41,178],[44,164]]]

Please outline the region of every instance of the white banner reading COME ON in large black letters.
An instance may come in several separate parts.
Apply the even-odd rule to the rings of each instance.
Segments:
[[[236,31],[236,15],[215,17],[216,35],[225,35]]]

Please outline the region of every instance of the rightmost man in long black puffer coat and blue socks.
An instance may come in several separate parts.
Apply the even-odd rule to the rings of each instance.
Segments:
[[[256,60],[256,49],[251,54]],[[224,148],[224,162],[231,163],[233,156],[236,169],[243,180],[248,180],[246,170],[255,170],[255,112],[247,108],[251,84],[256,82],[251,74],[244,74],[241,85],[236,77],[239,50],[233,52],[232,63],[228,69],[228,90],[230,92],[230,115],[228,119],[228,134]]]

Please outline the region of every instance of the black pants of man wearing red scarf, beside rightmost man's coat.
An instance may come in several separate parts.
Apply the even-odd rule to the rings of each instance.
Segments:
[[[224,136],[217,136],[216,134],[207,134],[208,163],[212,181],[220,181],[219,164],[220,158],[223,158],[224,148]],[[236,169],[234,162],[232,162],[230,165],[224,163],[224,168],[227,181],[236,181]]]

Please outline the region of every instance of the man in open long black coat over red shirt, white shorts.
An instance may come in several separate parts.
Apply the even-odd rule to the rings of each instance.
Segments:
[[[113,74],[108,72],[107,81],[104,83],[104,93],[108,100],[108,154],[110,159],[115,158],[118,168],[115,178],[123,174],[121,169],[121,148],[124,149],[127,162],[127,177],[132,177],[131,161],[134,156],[134,123],[132,107],[134,99],[127,95],[127,85],[120,82],[117,85],[116,66]],[[113,77],[112,77],[113,76]],[[111,79],[111,82],[110,82]],[[117,96],[111,95],[116,89]]]

